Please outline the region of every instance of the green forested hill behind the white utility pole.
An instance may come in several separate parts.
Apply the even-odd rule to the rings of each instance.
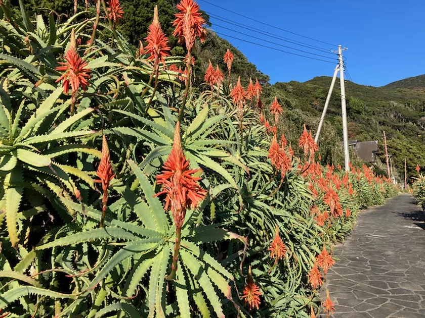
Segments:
[[[276,83],[273,93],[292,109],[300,109],[310,118],[315,130],[326,99],[331,78],[316,77],[310,81]],[[400,81],[402,82],[402,81]],[[326,117],[339,136],[342,136],[341,94],[339,79],[335,84]],[[387,133],[389,152],[398,170],[403,170],[407,158],[409,176],[416,164],[425,167],[425,92],[408,88],[373,87],[346,81],[349,137],[379,140]],[[380,157],[383,160],[383,147]]]

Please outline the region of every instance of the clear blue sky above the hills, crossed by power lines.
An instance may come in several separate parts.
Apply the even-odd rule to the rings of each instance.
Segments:
[[[207,0],[217,6],[328,43],[348,47],[344,52],[354,82],[381,86],[410,76],[425,74],[425,0]],[[328,44],[311,41],[273,27],[250,21],[198,0],[201,9],[265,32],[326,49]],[[282,45],[303,48],[279,39],[237,28],[211,17],[212,28],[221,33],[304,54],[276,44],[235,33],[252,34]],[[215,25],[216,24],[216,25]],[[218,25],[232,30],[220,28]],[[248,60],[271,78],[271,82],[306,81],[332,76],[332,64],[309,60],[223,36]],[[311,55],[308,55],[311,56]],[[315,56],[311,56],[315,57]],[[321,57],[316,57],[321,59]]]

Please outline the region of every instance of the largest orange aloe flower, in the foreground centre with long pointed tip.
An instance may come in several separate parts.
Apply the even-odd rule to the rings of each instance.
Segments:
[[[181,229],[186,216],[187,208],[195,208],[205,197],[206,190],[202,189],[194,177],[199,169],[189,169],[190,163],[183,153],[180,122],[176,124],[173,148],[162,166],[162,173],[156,176],[158,184],[162,185],[160,192],[155,196],[165,194],[165,209],[171,209],[174,223]]]

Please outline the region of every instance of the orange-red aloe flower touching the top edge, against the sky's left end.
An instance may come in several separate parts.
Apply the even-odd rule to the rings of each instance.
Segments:
[[[193,0],[182,0],[177,5],[180,13],[176,13],[176,20],[173,26],[176,27],[173,35],[179,38],[179,42],[186,44],[187,50],[192,51],[196,37],[199,37],[203,42],[206,38],[206,31],[203,28],[205,20],[199,11],[199,5]]]

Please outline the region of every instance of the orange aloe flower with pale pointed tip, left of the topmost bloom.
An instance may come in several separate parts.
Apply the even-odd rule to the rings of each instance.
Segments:
[[[161,24],[158,19],[158,6],[155,6],[153,13],[153,21],[148,29],[148,35],[145,40],[148,42],[145,52],[149,54],[148,61],[154,61],[155,66],[159,62],[165,65],[165,57],[169,56],[170,47],[168,46],[168,39],[161,29]]]

